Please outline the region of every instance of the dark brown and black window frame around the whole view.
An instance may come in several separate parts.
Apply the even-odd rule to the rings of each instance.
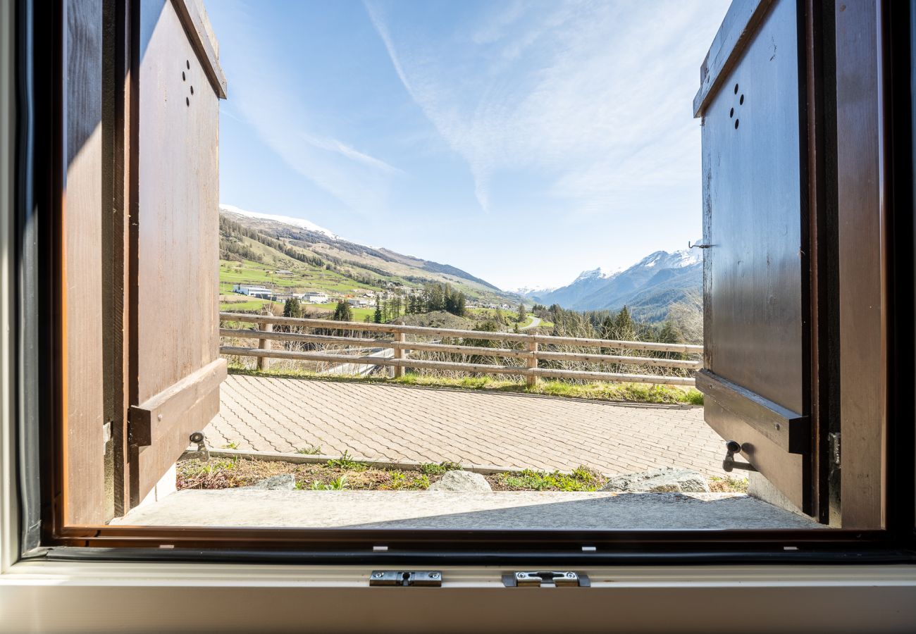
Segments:
[[[803,1],[803,0],[802,0]],[[30,7],[22,0],[19,6]],[[821,16],[821,3],[808,0],[809,16]],[[886,30],[893,27],[887,12],[889,5],[879,3]],[[58,15],[58,18],[60,16]],[[813,19],[813,18],[812,18]],[[810,38],[817,24],[809,28]],[[60,19],[52,29],[40,31],[52,38],[62,38]],[[882,31],[885,33],[885,31]],[[885,33],[893,35],[893,33]],[[899,45],[894,38],[881,40],[882,54]],[[909,40],[908,40],[909,41]],[[809,39],[812,45],[812,39]],[[908,48],[909,50],[909,48]],[[43,130],[35,127],[34,190],[38,214],[38,240],[29,246],[22,243],[23,261],[38,267],[32,282],[34,293],[29,295],[20,288],[16,302],[20,313],[19,328],[24,320],[34,320],[37,345],[20,347],[19,372],[16,374],[23,399],[18,403],[18,432],[27,450],[21,454],[24,462],[35,465],[38,461],[41,474],[40,518],[42,533],[36,541],[32,529],[23,530],[22,545],[27,556],[49,561],[71,561],[74,558],[104,561],[157,561],[157,562],[297,562],[297,563],[462,563],[485,562],[538,563],[543,565],[609,565],[609,564],[659,564],[659,563],[911,563],[914,560],[913,504],[890,504],[892,496],[903,495],[912,501],[912,475],[914,456],[911,446],[912,432],[900,422],[895,426],[896,443],[885,445],[886,464],[895,474],[902,475],[894,482],[886,481],[880,488],[883,500],[883,530],[350,530],[350,529],[212,529],[185,527],[123,527],[98,524],[65,525],[60,511],[63,490],[61,465],[65,443],[62,431],[65,424],[62,403],[63,386],[67,377],[61,372],[63,333],[66,326],[60,311],[60,242],[58,240],[63,201],[60,192],[60,175],[63,157],[60,148],[62,101],[60,95],[60,54],[54,46],[32,49],[36,60],[35,93],[32,104],[48,104],[50,112],[36,111],[38,118],[48,115],[54,126]],[[49,59],[42,59],[47,55]],[[813,71],[812,71],[813,72]],[[882,84],[884,85],[884,84]],[[885,85],[886,89],[886,85]],[[898,97],[900,95],[889,95]],[[899,100],[898,100],[899,101]],[[897,102],[887,101],[884,104]],[[899,114],[899,113],[898,113]],[[816,116],[816,115],[815,115]],[[891,151],[892,148],[887,148]],[[897,156],[898,165],[906,158]],[[821,166],[823,167],[823,166]],[[820,169],[820,168],[818,168]],[[891,193],[890,191],[888,192]],[[894,192],[896,195],[896,191]],[[902,195],[902,194],[900,194]],[[886,199],[882,199],[886,200]],[[895,222],[902,219],[895,219]],[[20,236],[21,237],[21,236]],[[889,270],[902,271],[912,267],[912,236],[902,232],[881,235],[890,240],[893,248],[882,250],[883,262]],[[58,242],[55,242],[58,240]],[[887,245],[887,242],[882,244]],[[38,258],[39,246],[49,246],[49,257]],[[29,259],[31,257],[31,259]],[[38,274],[43,271],[42,274]],[[906,278],[902,275],[892,280],[902,292]],[[895,287],[897,288],[897,287]],[[911,300],[911,294],[909,295]],[[911,301],[888,304],[884,317],[891,323],[911,320]],[[883,318],[882,318],[883,319]],[[882,322],[882,328],[887,323]],[[890,331],[887,331],[890,332]],[[897,331],[894,331],[895,333]],[[897,333],[897,336],[901,336]],[[20,345],[22,342],[20,342]],[[911,339],[908,343],[912,344]],[[911,349],[911,348],[908,348]],[[889,355],[882,366],[895,384],[890,386],[890,398],[884,401],[887,417],[884,420],[913,421],[913,403],[905,398],[912,386],[913,368],[908,355]],[[910,361],[908,366],[906,361]],[[878,403],[880,405],[880,403]],[[911,426],[911,424],[910,424]],[[909,434],[909,435],[908,435]],[[911,444],[911,443],[910,443]],[[904,477],[909,474],[908,478]],[[26,490],[26,489],[23,489]],[[909,497],[906,497],[909,492]],[[25,500],[20,507],[24,526],[36,526],[35,499]],[[374,552],[373,547],[384,544],[387,552]],[[594,552],[583,552],[583,547],[594,547]]]

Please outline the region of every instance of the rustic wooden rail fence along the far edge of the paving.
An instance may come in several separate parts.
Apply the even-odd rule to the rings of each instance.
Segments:
[[[699,360],[668,359],[656,356],[605,355],[601,349],[651,351],[656,353],[697,354],[703,352],[702,345],[659,344],[642,341],[616,341],[610,339],[583,339],[579,337],[557,337],[544,334],[524,333],[486,333],[472,330],[454,330],[449,328],[427,328],[406,326],[396,323],[363,323],[336,322],[327,319],[300,319],[295,317],[278,317],[271,315],[254,315],[237,312],[221,312],[223,322],[255,323],[256,329],[220,328],[220,335],[240,339],[256,339],[257,347],[238,347],[223,345],[223,355],[254,356],[258,358],[258,367],[266,367],[268,358],[296,361],[315,361],[340,364],[365,364],[371,366],[393,366],[395,376],[403,374],[405,367],[430,370],[451,370],[467,373],[500,374],[526,377],[529,386],[533,386],[539,377],[567,378],[588,381],[626,381],[632,383],[654,383],[665,385],[692,386],[693,377],[661,376],[651,374],[631,374],[617,372],[590,372],[583,370],[566,370],[552,367],[539,367],[539,361],[576,361],[594,364],[625,364],[627,366],[648,366],[677,368],[695,371],[703,366]],[[362,331],[368,333],[389,334],[392,338],[365,338],[322,333],[286,333],[274,332],[274,325],[284,325],[309,330],[321,331]],[[440,338],[457,338],[462,340],[504,341],[521,344],[519,348],[490,348],[482,345],[441,344],[420,341],[407,341],[406,335],[417,335]],[[335,344],[355,346],[362,349],[389,348],[394,356],[380,358],[375,356],[356,356],[333,354],[322,351],[276,350],[271,342],[287,341],[312,344]],[[599,348],[598,352],[578,353],[544,349],[541,346],[574,346]],[[482,363],[458,363],[453,361],[431,361],[409,358],[409,351],[426,351],[453,355],[479,355],[500,358],[525,360],[524,366],[506,366]]]

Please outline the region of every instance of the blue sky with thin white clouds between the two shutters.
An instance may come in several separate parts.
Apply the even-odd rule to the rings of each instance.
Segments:
[[[504,289],[701,235],[727,0],[208,0],[220,198]]]

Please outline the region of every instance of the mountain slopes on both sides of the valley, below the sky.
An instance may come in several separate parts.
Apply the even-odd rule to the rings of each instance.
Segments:
[[[236,267],[233,275],[242,277],[234,278],[235,282],[263,279],[264,272],[256,270],[258,267],[293,270],[295,278],[301,279],[297,286],[303,289],[448,282],[472,300],[516,304],[524,298],[547,306],[559,304],[573,311],[618,311],[626,305],[634,317],[647,322],[665,319],[672,303],[696,305],[703,291],[699,249],[656,251],[622,270],[586,270],[559,289],[507,291],[461,268],[405,256],[384,247],[359,245],[301,218],[250,212],[227,204],[221,205],[220,216],[224,221],[220,234],[222,257],[249,262],[256,257],[251,271],[243,268],[238,272]],[[239,231],[243,227],[246,234]],[[227,288],[228,276],[227,270]]]

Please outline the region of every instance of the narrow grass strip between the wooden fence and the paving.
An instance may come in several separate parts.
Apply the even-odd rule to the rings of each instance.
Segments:
[[[431,377],[412,372],[403,377],[358,377],[358,376],[324,376],[308,370],[254,370],[232,365],[233,374],[251,377],[290,377],[343,383],[385,383],[422,388],[456,388],[491,390],[495,392],[516,392],[519,394],[539,394],[542,396],[568,399],[591,399],[628,401],[638,403],[702,405],[703,393],[696,388],[679,386],[651,385],[649,383],[567,383],[564,381],[541,380],[534,388],[528,388],[522,380],[500,379],[495,377]]]

